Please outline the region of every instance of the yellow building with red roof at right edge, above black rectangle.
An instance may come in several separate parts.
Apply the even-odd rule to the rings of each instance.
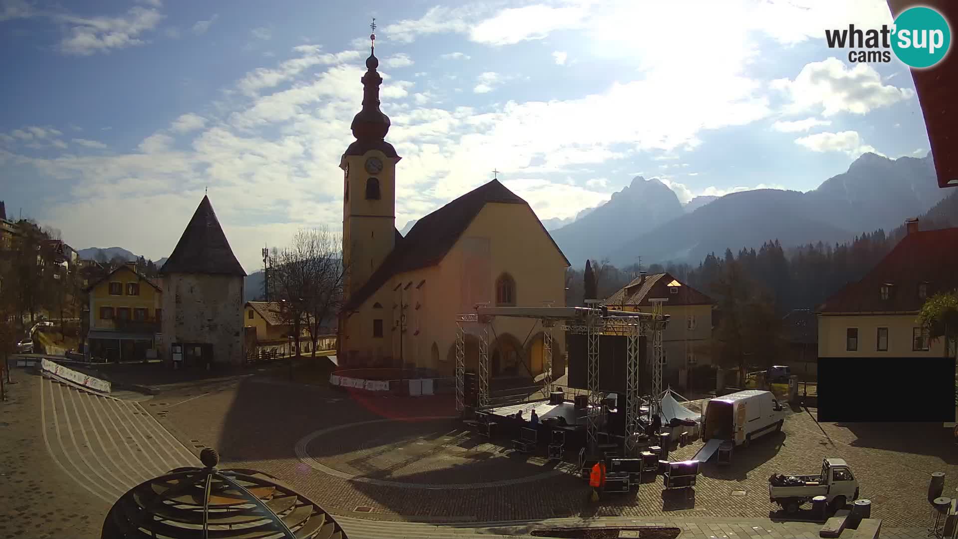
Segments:
[[[864,358],[914,369],[920,363],[909,360],[954,357],[955,346],[946,351],[944,339],[929,339],[918,315],[926,298],[958,289],[958,228],[920,231],[917,219],[908,220],[906,227],[907,235],[874,269],[819,307],[820,367]],[[958,384],[958,373],[955,377]]]

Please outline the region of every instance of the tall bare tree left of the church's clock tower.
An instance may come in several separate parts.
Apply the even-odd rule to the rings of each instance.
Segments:
[[[341,247],[327,229],[303,229],[276,253],[270,287],[280,302],[280,317],[293,326],[297,343],[305,326],[310,349],[334,319],[342,299],[346,271]],[[296,355],[300,355],[299,346]]]

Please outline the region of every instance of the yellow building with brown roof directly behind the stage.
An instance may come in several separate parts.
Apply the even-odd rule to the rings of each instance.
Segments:
[[[656,303],[662,304],[662,314],[670,316],[662,332],[663,375],[667,383],[687,387],[690,368],[712,364],[715,301],[671,273],[640,271],[638,277],[603,303],[609,309],[639,313],[651,313]]]

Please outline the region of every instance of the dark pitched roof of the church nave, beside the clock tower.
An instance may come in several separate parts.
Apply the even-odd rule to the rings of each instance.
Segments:
[[[449,249],[456,244],[459,237],[466,231],[469,223],[472,223],[472,220],[479,215],[483,207],[490,202],[524,204],[529,207],[528,202],[507,189],[498,179],[493,179],[489,183],[469,191],[462,197],[452,200],[417,221],[404,238],[397,231],[397,242],[393,251],[373,272],[369,281],[353,294],[353,297],[346,303],[345,310],[358,308],[394,275],[439,264],[445,254],[449,252]],[[532,211],[531,207],[529,211]],[[536,218],[536,222],[538,222],[538,218]],[[541,222],[538,223],[552,245],[556,246],[559,254],[562,254],[562,250],[559,249],[556,241],[546,231],[545,226],[542,226]],[[568,266],[569,260],[565,258],[564,254],[562,254],[562,259]]]

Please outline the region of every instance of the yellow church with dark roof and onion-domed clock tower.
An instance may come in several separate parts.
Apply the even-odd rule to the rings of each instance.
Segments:
[[[385,140],[390,121],[379,109],[378,63],[371,47],[355,141],[339,165],[346,268],[339,364],[452,376],[457,315],[474,313],[478,304],[564,306],[569,261],[532,207],[498,179],[423,217],[404,237],[399,233],[401,157]],[[561,374],[565,340],[562,332],[554,335],[554,371]],[[542,340],[535,319],[496,318],[488,339],[491,376],[541,374]],[[478,349],[478,338],[468,335],[467,370],[477,368]]]

